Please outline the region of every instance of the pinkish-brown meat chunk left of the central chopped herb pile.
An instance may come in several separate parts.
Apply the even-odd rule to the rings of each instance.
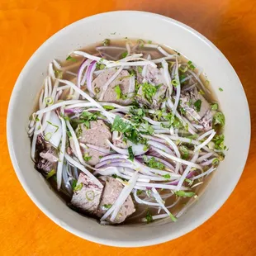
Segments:
[[[76,130],[76,134],[78,135],[79,144],[83,145],[80,146],[83,155],[88,157],[88,164],[95,165],[99,163],[102,153],[89,148],[86,144],[110,150],[109,145],[107,145],[107,140],[111,140],[111,132],[102,120],[91,121],[89,129],[83,124],[79,125]],[[73,139],[70,138],[69,141],[73,154],[77,155]]]

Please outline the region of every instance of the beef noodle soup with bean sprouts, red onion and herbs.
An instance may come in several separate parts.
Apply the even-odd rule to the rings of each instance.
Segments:
[[[202,69],[145,40],[53,60],[29,121],[31,159],[103,225],[178,220],[224,159],[225,116]]]

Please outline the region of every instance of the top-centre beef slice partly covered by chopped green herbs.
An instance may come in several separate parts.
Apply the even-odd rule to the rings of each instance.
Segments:
[[[138,77],[138,83],[149,83],[154,86],[161,85],[157,92],[152,97],[152,102],[149,102],[148,99],[145,97],[143,93],[143,85],[140,86],[137,96],[135,97],[136,100],[146,106],[152,107],[154,109],[159,109],[161,105],[161,99],[164,98],[165,92],[167,90],[167,84],[164,79],[163,69],[154,68],[151,66],[147,67],[147,72],[145,74],[145,78],[141,76]]]

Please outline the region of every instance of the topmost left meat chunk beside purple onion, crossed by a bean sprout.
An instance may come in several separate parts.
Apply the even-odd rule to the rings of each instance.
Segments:
[[[96,97],[99,98],[102,95],[102,88],[107,83],[107,80],[110,79],[116,73],[116,69],[107,69],[100,73],[97,78],[92,81],[92,90],[93,92],[97,92]],[[127,99],[118,99],[115,91],[116,86],[121,88],[121,93],[124,96],[128,96]],[[105,92],[102,101],[103,102],[115,102],[121,105],[129,105],[132,102],[132,99],[129,99],[130,95],[128,95],[130,87],[130,73],[126,70],[122,70],[121,73],[116,77],[116,79],[111,82]]]

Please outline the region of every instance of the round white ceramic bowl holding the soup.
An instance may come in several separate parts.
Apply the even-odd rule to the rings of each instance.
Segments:
[[[69,209],[45,183],[31,161],[26,135],[36,95],[47,65],[85,45],[105,38],[142,38],[178,50],[207,74],[225,113],[225,144],[229,151],[200,200],[176,223],[145,226],[102,226]],[[223,88],[220,92],[218,88]],[[22,70],[12,92],[7,116],[7,140],[12,164],[22,186],[41,211],[65,230],[96,243],[122,247],[159,244],[190,232],[208,220],[235,188],[249,150],[250,118],[244,90],[229,61],[197,31],[147,12],[107,12],[77,21],[46,40]]]

